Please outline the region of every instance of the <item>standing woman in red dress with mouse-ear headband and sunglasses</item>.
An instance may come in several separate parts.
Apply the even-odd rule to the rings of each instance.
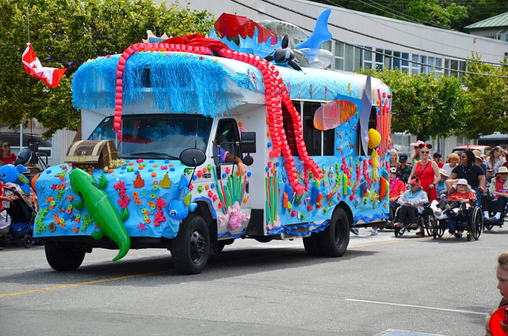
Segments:
[[[441,175],[439,174],[437,163],[429,159],[432,145],[424,144],[420,146],[422,158],[413,166],[408,181],[411,181],[413,177],[420,179],[422,189],[428,193],[429,201],[431,202],[434,199],[437,200],[436,185],[441,180]]]

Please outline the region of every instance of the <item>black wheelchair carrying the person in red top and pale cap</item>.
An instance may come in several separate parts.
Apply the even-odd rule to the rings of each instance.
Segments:
[[[456,231],[467,231],[467,241],[479,240],[484,229],[483,212],[481,208],[481,194],[478,194],[477,203],[470,208],[461,204],[459,212],[448,218],[436,219],[431,216],[432,237],[441,238],[447,230],[454,234]]]

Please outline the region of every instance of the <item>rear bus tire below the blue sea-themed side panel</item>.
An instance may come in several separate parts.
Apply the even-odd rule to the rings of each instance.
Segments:
[[[335,208],[330,224],[318,234],[323,255],[341,257],[349,244],[350,222],[342,208]]]

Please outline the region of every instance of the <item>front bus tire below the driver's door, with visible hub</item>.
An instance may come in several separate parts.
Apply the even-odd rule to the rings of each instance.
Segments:
[[[203,218],[188,215],[171,244],[173,264],[181,274],[201,273],[210,256],[210,233]]]

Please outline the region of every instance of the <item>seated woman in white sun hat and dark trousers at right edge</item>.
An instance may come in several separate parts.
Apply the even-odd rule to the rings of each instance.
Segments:
[[[500,166],[490,182],[489,195],[482,198],[483,216],[486,220],[498,221],[508,201],[508,168]],[[494,216],[490,217],[490,214]]]

